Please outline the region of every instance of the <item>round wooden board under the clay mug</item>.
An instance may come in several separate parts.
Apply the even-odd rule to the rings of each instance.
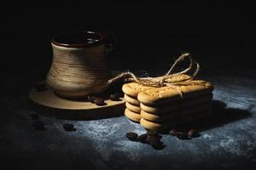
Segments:
[[[46,116],[56,118],[88,120],[122,116],[125,111],[125,100],[105,100],[107,105],[95,105],[86,101],[63,99],[52,90],[38,92],[32,89],[28,95],[28,102],[32,108]]]

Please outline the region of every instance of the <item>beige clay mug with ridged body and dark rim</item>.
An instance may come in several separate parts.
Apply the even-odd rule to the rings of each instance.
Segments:
[[[53,37],[49,88],[66,98],[102,93],[111,77],[105,57],[113,44],[108,32],[69,31]]]

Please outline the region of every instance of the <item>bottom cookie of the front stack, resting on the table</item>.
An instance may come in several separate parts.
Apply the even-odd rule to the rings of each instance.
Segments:
[[[149,121],[145,120],[144,118],[141,118],[140,123],[141,123],[142,127],[146,128],[148,130],[161,131],[161,130],[166,130],[173,126],[177,126],[178,124],[197,121],[197,120],[204,118],[210,114],[211,114],[210,110],[201,111],[199,113],[196,113],[195,115],[186,116],[186,117],[177,117],[176,119],[173,119],[172,121],[170,120],[167,122],[149,122]]]

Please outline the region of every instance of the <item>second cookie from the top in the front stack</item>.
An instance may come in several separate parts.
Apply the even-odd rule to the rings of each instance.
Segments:
[[[175,111],[179,109],[181,106],[188,107],[192,105],[199,105],[201,103],[211,101],[211,100],[212,100],[212,94],[207,94],[207,95],[198,96],[196,98],[174,101],[172,102],[172,104],[166,104],[166,105],[153,106],[153,105],[145,105],[141,103],[140,107],[143,111],[146,111],[148,113],[160,114],[167,111]]]

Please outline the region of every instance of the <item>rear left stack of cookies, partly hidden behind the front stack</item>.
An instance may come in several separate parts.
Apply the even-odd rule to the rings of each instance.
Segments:
[[[141,107],[140,102],[137,100],[137,94],[144,90],[152,89],[153,87],[145,87],[136,82],[124,84],[122,90],[125,93],[125,116],[133,122],[140,122],[141,120]]]

